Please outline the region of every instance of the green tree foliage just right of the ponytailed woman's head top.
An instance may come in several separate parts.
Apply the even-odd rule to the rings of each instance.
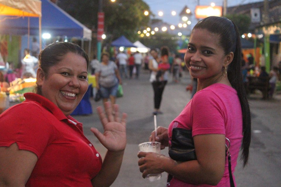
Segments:
[[[235,23],[235,25],[237,25],[240,34],[249,32],[251,18],[248,15],[228,14],[225,17],[228,18],[229,20],[232,20]]]

